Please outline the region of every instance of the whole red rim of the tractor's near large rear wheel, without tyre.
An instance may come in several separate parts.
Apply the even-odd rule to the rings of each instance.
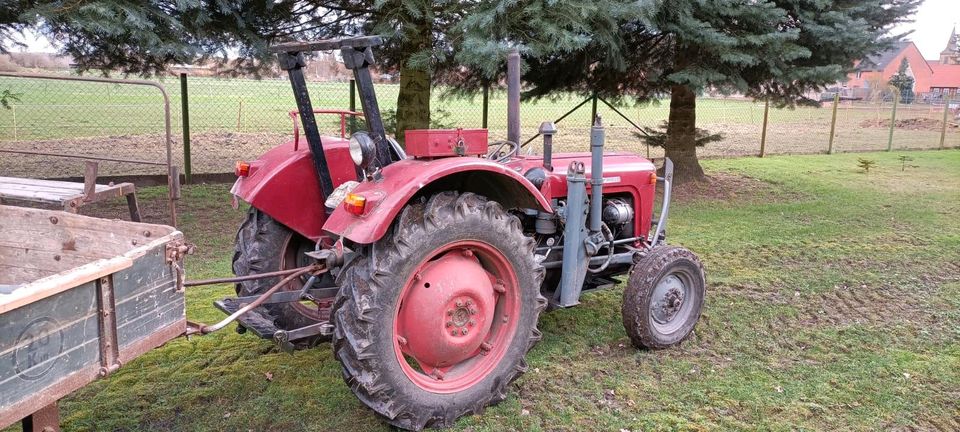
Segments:
[[[450,243],[404,283],[393,321],[397,361],[424,390],[466,390],[503,359],[519,317],[519,282],[503,253],[480,241]]]

